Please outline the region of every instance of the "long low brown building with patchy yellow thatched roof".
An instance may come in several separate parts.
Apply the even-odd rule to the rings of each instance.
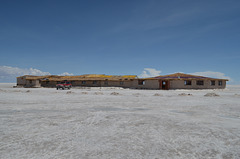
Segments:
[[[133,89],[224,89],[227,79],[174,73],[151,78],[136,75],[80,75],[80,76],[32,76],[17,77],[18,87],[55,87],[61,81],[69,81],[74,87],[123,87]]]

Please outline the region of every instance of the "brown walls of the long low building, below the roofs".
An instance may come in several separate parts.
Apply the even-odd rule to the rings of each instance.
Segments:
[[[81,87],[123,87],[133,89],[162,89],[158,79],[132,79],[132,80],[75,80],[71,81],[73,86]],[[197,85],[197,80],[191,81],[191,85],[185,85],[185,80],[164,80],[168,81],[168,89],[224,89],[226,87],[226,80],[208,79],[203,80],[203,85]],[[211,81],[215,81],[212,85]],[[222,85],[219,85],[222,81]],[[56,87],[60,81],[41,81],[40,80],[26,80],[26,76],[17,77],[17,85],[23,87]]]

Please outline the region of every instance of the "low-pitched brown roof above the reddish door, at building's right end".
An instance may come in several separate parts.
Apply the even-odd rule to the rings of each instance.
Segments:
[[[197,75],[190,75],[190,74],[184,74],[184,73],[174,73],[170,75],[164,75],[164,76],[156,76],[151,77],[147,79],[179,79],[179,80],[185,80],[185,79],[202,79],[202,80],[216,80],[218,78],[211,78],[211,77],[204,77],[204,76],[197,76]],[[219,79],[218,79],[219,80]],[[228,79],[221,79],[228,81]]]

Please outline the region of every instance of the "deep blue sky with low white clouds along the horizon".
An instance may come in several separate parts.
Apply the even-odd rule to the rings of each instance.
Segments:
[[[0,24],[0,82],[184,72],[240,84],[239,0],[1,0]]]

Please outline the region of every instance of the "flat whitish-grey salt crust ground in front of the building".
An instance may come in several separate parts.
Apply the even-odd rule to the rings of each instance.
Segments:
[[[0,84],[0,158],[240,158],[240,86],[57,91],[13,85]]]

